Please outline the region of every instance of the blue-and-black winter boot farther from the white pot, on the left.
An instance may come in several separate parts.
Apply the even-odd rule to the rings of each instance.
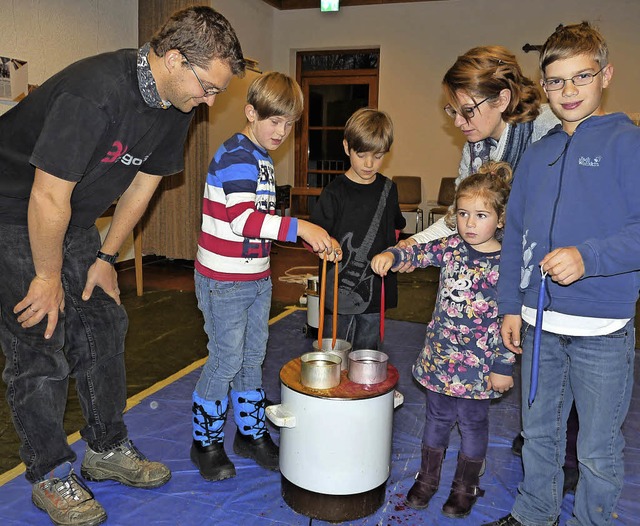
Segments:
[[[205,480],[224,480],[236,476],[236,468],[224,451],[228,405],[228,397],[209,401],[193,392],[193,443],[190,456]]]

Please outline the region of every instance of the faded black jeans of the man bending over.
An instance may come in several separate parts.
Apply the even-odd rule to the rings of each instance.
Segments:
[[[99,287],[88,301],[81,298],[100,245],[95,227],[69,227],[63,244],[65,309],[53,336],[45,340],[46,316],[23,329],[19,314],[13,313],[35,275],[27,227],[0,224],[0,345],[6,357],[2,378],[29,482],[76,458],[62,425],[69,376],[76,379],[87,422],[81,434],[91,448],[109,449],[127,438],[122,419],[127,314]]]

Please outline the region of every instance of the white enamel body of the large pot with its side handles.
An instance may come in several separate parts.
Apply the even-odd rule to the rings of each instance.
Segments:
[[[282,403],[266,408],[280,432],[280,472],[296,486],[329,495],[359,494],[389,477],[393,410],[404,397],[336,400],[282,385]],[[339,440],[336,440],[339,436]]]

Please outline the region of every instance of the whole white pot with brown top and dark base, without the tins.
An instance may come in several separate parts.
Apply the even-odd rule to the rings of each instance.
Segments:
[[[393,412],[402,403],[398,371],[387,368],[375,385],[342,371],[331,389],[303,385],[300,358],[281,369],[282,402],[267,407],[267,416],[281,427],[282,495],[295,511],[336,522],[370,515],[384,502]]]

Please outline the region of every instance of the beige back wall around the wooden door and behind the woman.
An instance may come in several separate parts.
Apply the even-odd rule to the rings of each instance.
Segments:
[[[434,200],[440,178],[456,175],[461,134],[442,111],[440,82],[456,57],[471,47],[501,44],[537,80],[537,53],[559,23],[589,20],[603,32],[616,68],[608,111],[638,112],[640,100],[640,1],[638,0],[447,0],[278,11],[273,29],[273,67],[295,73],[296,50],[380,47],[378,105],[395,124],[386,175],[423,177],[423,200]],[[280,171],[293,181],[293,148]]]

